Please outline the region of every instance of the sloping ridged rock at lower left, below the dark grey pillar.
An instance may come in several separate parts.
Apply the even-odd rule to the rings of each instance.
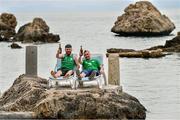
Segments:
[[[0,111],[32,111],[42,99],[48,81],[39,77],[19,76],[0,98]]]

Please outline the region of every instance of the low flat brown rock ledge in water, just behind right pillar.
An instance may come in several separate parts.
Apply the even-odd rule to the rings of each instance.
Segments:
[[[162,49],[155,50],[132,50],[132,49],[117,49],[111,48],[107,50],[107,56],[111,53],[119,53],[119,57],[128,58],[159,58],[166,54],[162,52]]]

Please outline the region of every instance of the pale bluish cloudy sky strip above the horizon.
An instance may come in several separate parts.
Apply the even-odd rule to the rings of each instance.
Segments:
[[[0,0],[2,12],[114,11],[138,0]],[[149,0],[160,9],[180,8],[180,0]]]

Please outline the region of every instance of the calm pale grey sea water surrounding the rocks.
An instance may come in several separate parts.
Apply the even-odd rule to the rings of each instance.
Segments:
[[[50,32],[60,35],[64,47],[70,43],[73,52],[80,46],[91,53],[104,55],[107,74],[108,48],[145,49],[164,45],[180,31],[180,14],[164,11],[175,23],[176,30],[164,37],[118,37],[110,30],[120,13],[118,12],[74,12],[74,13],[18,13],[17,29],[42,17]],[[0,91],[6,91],[13,81],[25,73],[25,46],[12,50],[11,43],[0,43]],[[58,43],[38,46],[38,75],[48,78],[56,63]],[[123,91],[135,96],[147,109],[147,119],[180,119],[180,54],[173,53],[163,58],[120,58],[120,79]]]

